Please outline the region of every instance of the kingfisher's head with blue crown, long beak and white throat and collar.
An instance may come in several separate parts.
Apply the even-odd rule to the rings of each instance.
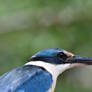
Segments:
[[[77,56],[61,48],[51,48],[36,53],[27,64],[43,67],[58,76],[74,66],[91,65],[92,58]]]

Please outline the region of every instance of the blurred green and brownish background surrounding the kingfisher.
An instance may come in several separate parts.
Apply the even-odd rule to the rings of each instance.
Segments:
[[[46,48],[92,57],[92,0],[0,0],[0,75]],[[64,72],[55,92],[92,92],[92,66]]]

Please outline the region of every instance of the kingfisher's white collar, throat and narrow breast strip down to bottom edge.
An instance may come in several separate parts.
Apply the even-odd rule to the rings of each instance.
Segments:
[[[46,63],[43,61],[30,61],[26,63],[25,65],[39,66],[39,67],[46,69],[49,73],[51,73],[52,78],[53,78],[53,84],[52,84],[52,87],[47,92],[54,92],[57,77],[59,76],[59,74],[61,74],[63,71],[65,71],[66,69],[70,67],[69,64],[55,65],[55,64],[50,64],[50,63]]]

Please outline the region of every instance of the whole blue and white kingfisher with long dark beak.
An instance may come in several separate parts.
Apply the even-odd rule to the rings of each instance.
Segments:
[[[0,76],[0,92],[54,92],[58,76],[80,65],[92,65],[92,58],[61,48],[39,51],[24,65]]]

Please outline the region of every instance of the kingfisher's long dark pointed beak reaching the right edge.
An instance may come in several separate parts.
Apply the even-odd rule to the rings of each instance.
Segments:
[[[81,64],[92,65],[92,58],[81,57],[81,56],[72,56],[71,58],[68,58],[65,61],[65,63],[81,63]]]

